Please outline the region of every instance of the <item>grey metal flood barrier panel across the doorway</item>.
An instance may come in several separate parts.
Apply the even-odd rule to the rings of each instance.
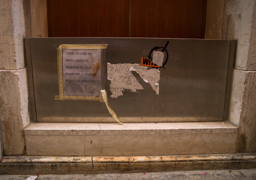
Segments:
[[[107,66],[140,64],[166,42],[159,94],[133,73],[143,89],[110,97]],[[57,48],[62,44],[107,44],[102,89],[121,122],[195,122],[227,119],[236,41],[150,38],[27,38],[29,98],[33,122],[115,122],[100,101],[54,100],[58,95]],[[164,59],[166,59],[166,53]],[[148,67],[152,69],[152,67]],[[150,81],[150,78],[147,77]]]

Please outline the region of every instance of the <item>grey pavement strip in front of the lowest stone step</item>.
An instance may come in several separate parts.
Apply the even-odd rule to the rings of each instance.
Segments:
[[[203,173],[203,174],[202,174]],[[3,180],[16,180],[27,179],[31,175],[0,175]],[[191,171],[168,171],[168,172],[141,172],[141,173],[105,173],[105,174],[45,174],[37,177],[38,180],[68,180],[68,179],[172,179],[172,180],[185,180],[185,179],[207,179],[207,180],[229,180],[229,179],[256,179],[256,169],[224,169],[224,170],[191,170]]]

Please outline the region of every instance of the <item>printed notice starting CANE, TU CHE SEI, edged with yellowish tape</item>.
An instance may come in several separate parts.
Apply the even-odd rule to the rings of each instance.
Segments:
[[[107,45],[58,47],[58,88],[56,100],[100,100],[103,50]]]

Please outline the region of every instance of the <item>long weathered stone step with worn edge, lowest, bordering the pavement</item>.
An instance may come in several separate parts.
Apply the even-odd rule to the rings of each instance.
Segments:
[[[131,173],[256,168],[256,153],[168,156],[4,156],[0,174]]]

